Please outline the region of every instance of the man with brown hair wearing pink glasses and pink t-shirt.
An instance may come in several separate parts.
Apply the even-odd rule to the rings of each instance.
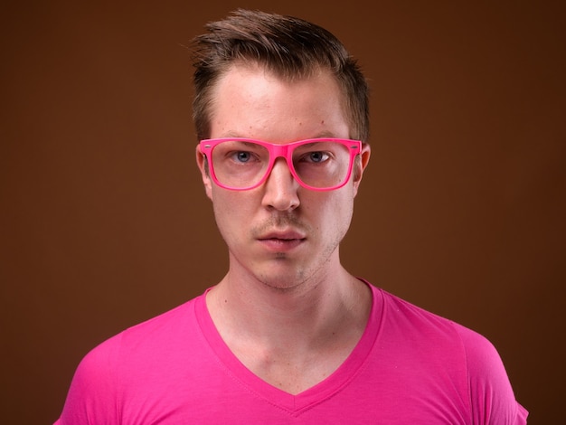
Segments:
[[[81,362],[61,424],[526,423],[494,347],[346,271],[368,89],[344,46],[237,11],[195,41],[216,286]]]

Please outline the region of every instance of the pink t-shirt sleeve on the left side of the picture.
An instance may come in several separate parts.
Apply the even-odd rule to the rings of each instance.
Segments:
[[[94,348],[80,362],[57,425],[116,424],[119,391],[118,337]]]

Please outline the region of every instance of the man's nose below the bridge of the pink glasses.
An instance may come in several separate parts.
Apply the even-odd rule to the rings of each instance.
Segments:
[[[278,158],[264,184],[262,204],[278,211],[294,210],[299,205],[299,184],[284,158]]]

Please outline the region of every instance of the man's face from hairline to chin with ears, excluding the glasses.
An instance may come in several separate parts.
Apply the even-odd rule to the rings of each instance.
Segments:
[[[289,82],[259,67],[238,65],[214,92],[211,138],[246,137],[274,144],[349,138],[342,95],[328,73]],[[231,191],[214,184],[197,148],[206,194],[230,252],[231,275],[273,288],[324,279],[339,265],[338,245],[350,225],[368,159],[369,146],[363,146],[353,177],[334,191],[300,186],[283,158],[278,158],[264,184]]]

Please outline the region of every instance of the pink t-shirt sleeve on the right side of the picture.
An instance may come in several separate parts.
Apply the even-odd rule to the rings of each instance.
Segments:
[[[500,355],[484,336],[458,326],[467,355],[469,397],[474,424],[524,425],[528,412],[514,397]]]

